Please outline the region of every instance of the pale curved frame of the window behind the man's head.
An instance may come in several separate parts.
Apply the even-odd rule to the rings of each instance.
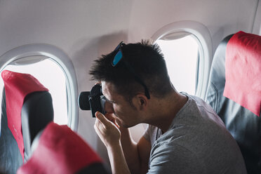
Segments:
[[[208,31],[208,28],[200,22],[184,20],[173,22],[161,27],[161,29],[156,31],[151,38],[153,41],[156,41],[162,39],[168,34],[178,32],[192,34],[199,44],[199,62],[197,67],[199,74],[196,74],[196,79],[198,79],[198,81],[196,81],[195,95],[204,99],[206,96],[209,72],[213,59],[213,44],[210,32]]]

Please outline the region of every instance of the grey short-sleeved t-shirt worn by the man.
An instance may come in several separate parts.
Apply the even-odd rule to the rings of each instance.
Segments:
[[[200,98],[187,97],[166,133],[147,128],[148,173],[246,173],[241,151],[220,117]]]

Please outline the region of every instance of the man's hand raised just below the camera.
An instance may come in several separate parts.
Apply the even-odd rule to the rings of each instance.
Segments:
[[[97,119],[95,121],[94,129],[105,146],[111,147],[119,144],[121,132],[119,131],[119,126],[116,124],[112,115],[103,115],[100,112],[96,112],[95,116]]]

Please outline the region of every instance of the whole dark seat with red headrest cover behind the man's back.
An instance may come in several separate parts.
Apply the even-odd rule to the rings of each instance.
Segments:
[[[235,39],[239,41],[239,44],[234,44]],[[243,66],[235,69],[235,72],[232,72],[233,78],[239,83],[238,88],[232,87],[229,92],[229,90],[226,89],[229,88],[229,82],[231,81],[228,73],[232,70],[234,71],[234,67],[238,67],[238,65],[236,65],[237,62],[232,62],[232,66],[228,65],[228,58],[231,55],[230,53],[232,53],[230,49],[232,49],[232,52],[234,51],[233,53],[236,55],[234,58],[245,56],[244,58],[246,58],[249,63],[252,61],[251,59],[256,58],[259,63],[253,64],[254,70],[256,70],[255,67],[259,67],[259,70],[257,68],[259,72],[253,73],[253,76],[250,76],[253,67],[245,67],[245,65],[249,64],[244,60],[246,62],[243,63]],[[227,130],[238,143],[246,163],[248,174],[261,173],[260,51],[261,36],[238,32],[225,37],[215,51],[206,93],[206,102],[213,107],[217,115],[219,115],[225,123]],[[255,60],[253,60],[253,62],[255,62]],[[227,68],[225,68],[226,66]],[[245,68],[248,68],[247,73]],[[246,74],[248,75],[246,80],[242,80],[242,76]],[[246,86],[246,90],[248,90],[246,93],[241,91],[241,88],[244,86]],[[223,93],[227,97],[225,97]],[[234,93],[234,95],[230,95],[229,93]],[[249,93],[254,93],[254,95],[250,95]],[[241,96],[245,100],[238,100]],[[253,102],[254,99],[257,100]],[[236,100],[236,102],[234,102],[234,100]],[[253,105],[257,106],[255,110],[253,110]]]

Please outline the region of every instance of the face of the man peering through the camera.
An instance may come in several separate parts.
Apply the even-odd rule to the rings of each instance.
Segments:
[[[124,99],[123,95],[116,93],[112,83],[102,81],[102,93],[108,101],[105,107],[106,112],[113,114],[119,126],[129,128],[140,123],[138,110],[131,106],[130,103]]]

